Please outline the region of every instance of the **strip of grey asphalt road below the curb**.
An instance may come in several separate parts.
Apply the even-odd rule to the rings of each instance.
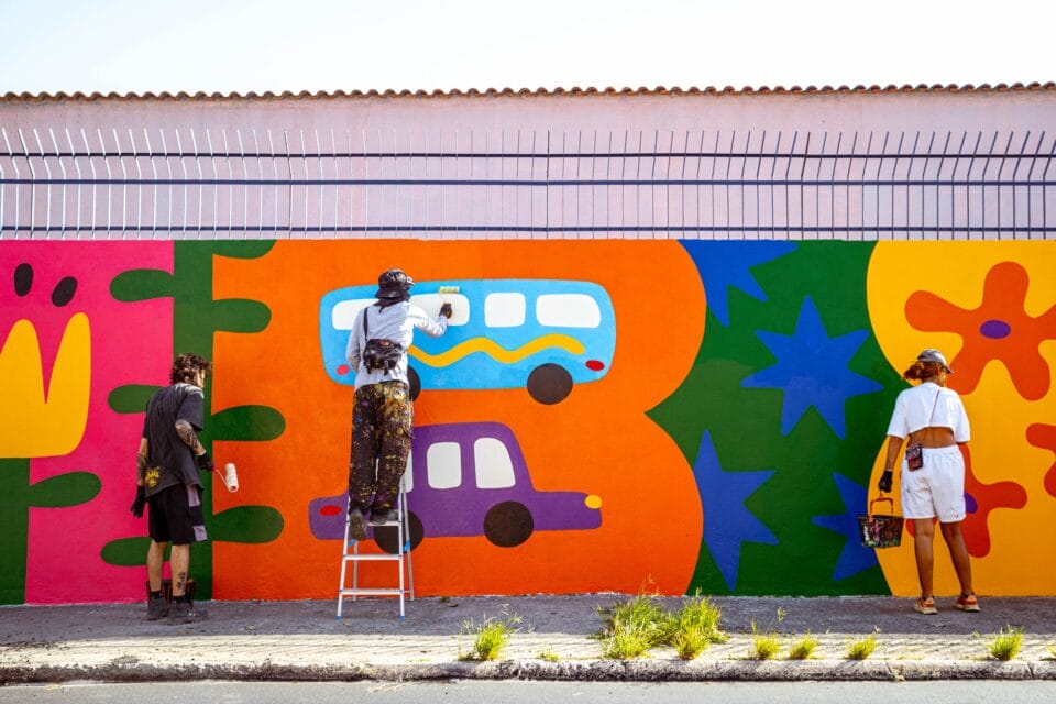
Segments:
[[[1050,704],[1056,681],[935,682],[155,682],[0,688],[0,704]]]

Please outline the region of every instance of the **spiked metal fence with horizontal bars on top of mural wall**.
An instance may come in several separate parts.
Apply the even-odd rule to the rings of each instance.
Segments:
[[[3,239],[1044,239],[1009,132],[0,128]]]

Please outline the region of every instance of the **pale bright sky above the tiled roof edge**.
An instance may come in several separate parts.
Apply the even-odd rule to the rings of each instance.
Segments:
[[[1056,80],[1047,0],[0,0],[0,94]]]

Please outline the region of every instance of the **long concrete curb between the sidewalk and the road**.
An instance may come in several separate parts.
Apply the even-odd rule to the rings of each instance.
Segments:
[[[798,682],[798,681],[930,681],[1056,680],[1056,661],[979,662],[806,660],[682,662],[656,660],[590,660],[548,662],[503,660],[436,664],[201,664],[160,667],[148,663],[106,666],[4,666],[0,684],[90,682],[301,681],[388,682],[437,680],[550,680],[584,682]]]

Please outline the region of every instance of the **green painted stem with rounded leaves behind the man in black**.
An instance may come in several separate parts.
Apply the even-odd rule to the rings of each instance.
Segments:
[[[122,301],[173,298],[173,356],[187,352],[213,359],[217,332],[255,333],[267,328],[271,310],[255,300],[213,299],[213,257],[255,258],[267,254],[274,242],[175,242],[173,274],[157,270],[123,272],[110,284],[111,295]],[[242,406],[212,415],[211,381],[206,384],[205,431],[201,442],[210,453],[213,440],[272,440],[286,427],[282,414],[265,406]],[[132,408],[142,399],[134,387],[120,387],[110,395],[112,407]],[[142,400],[145,406],[145,400]],[[233,518],[220,519],[212,514],[211,472],[200,473],[205,492],[202,513],[210,540],[191,546],[190,571],[198,584],[197,596],[212,598],[212,542],[270,542],[283,530],[277,510],[263,506],[245,506]],[[114,540],[102,549],[102,559],[110,564],[142,565],[146,560],[146,542],[136,538]],[[135,552],[140,550],[140,554]]]

